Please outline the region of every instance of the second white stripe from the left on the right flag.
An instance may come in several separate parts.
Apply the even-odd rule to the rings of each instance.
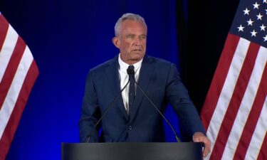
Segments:
[[[264,47],[261,47],[258,50],[258,56],[251,73],[251,78],[248,82],[248,87],[246,88],[246,92],[239,107],[239,112],[236,115],[237,120],[234,121],[233,129],[231,129],[229,139],[226,142],[224,154],[221,159],[234,158],[236,147],[239,144],[239,139],[244,130],[248,114],[251,111],[251,107],[256,97],[258,85],[261,82],[261,77],[267,60],[266,53],[267,49]]]

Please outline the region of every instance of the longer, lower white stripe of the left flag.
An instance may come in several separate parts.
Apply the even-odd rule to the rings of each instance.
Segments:
[[[9,88],[9,92],[6,95],[6,99],[4,100],[4,104],[0,110],[0,138],[2,137],[6,124],[9,122],[11,113],[14,110],[16,100],[18,99],[23,81],[26,78],[26,74],[28,73],[28,69],[30,68],[32,61],[33,55],[31,55],[31,51],[28,49],[28,46],[26,46],[21,62],[19,63],[18,70],[16,71],[11,87]]]

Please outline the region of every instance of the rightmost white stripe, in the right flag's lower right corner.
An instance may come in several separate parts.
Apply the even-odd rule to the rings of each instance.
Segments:
[[[258,119],[258,123],[256,125],[256,129],[253,132],[253,136],[251,139],[251,144],[248,146],[248,151],[246,151],[245,159],[257,159],[258,153],[261,150],[261,145],[263,143],[263,139],[266,135],[267,130],[267,99],[265,98],[265,102],[263,104],[263,108],[261,110],[261,115]]]

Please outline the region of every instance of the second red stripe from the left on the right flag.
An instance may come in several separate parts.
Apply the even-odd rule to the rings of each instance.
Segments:
[[[224,153],[224,147],[226,146],[226,142],[233,127],[234,120],[236,119],[236,114],[239,111],[241,100],[244,97],[259,48],[260,46],[256,45],[255,43],[250,43],[248,47],[248,53],[241,68],[239,78],[236,82],[234,93],[231,97],[229,107],[226,110],[224,120],[219,129],[219,134],[217,137],[220,137],[220,139],[216,139],[214,149],[211,153],[211,159],[213,156],[221,157]]]

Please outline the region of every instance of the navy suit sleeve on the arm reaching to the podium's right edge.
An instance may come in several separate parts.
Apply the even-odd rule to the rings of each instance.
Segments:
[[[170,65],[166,86],[167,100],[174,108],[179,117],[180,126],[188,137],[192,137],[195,132],[205,134],[205,129],[201,124],[199,114],[189,98],[187,89],[182,84],[178,70],[174,64]]]

